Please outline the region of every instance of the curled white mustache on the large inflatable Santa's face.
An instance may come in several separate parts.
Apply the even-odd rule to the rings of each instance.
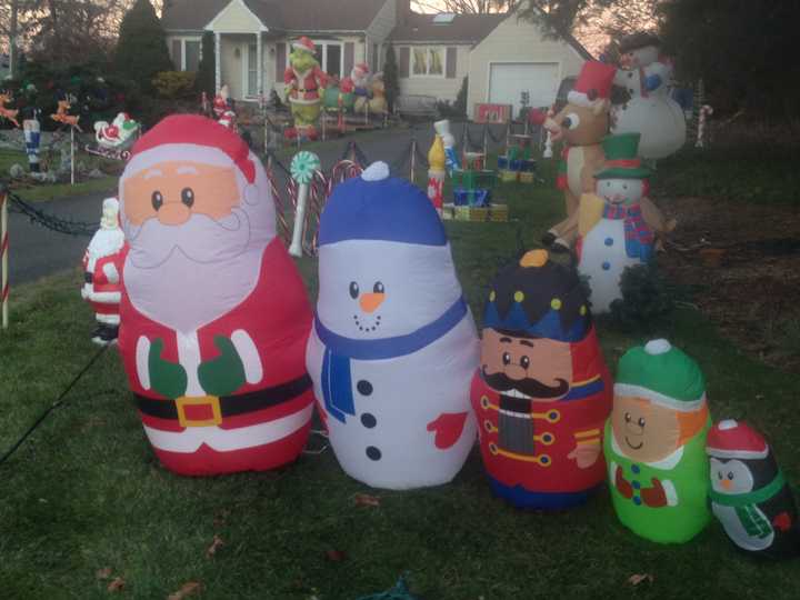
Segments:
[[[154,269],[176,251],[199,263],[228,260],[241,254],[250,242],[250,220],[240,208],[217,221],[192,213],[180,226],[163,224],[156,217],[140,227],[129,221],[122,224],[130,244],[130,261],[140,269]]]

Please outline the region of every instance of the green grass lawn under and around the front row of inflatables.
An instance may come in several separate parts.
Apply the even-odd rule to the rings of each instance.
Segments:
[[[677,177],[670,164],[681,160],[664,161],[659,177]],[[499,189],[512,222],[448,223],[478,317],[488,281],[518,240],[536,246],[562,210],[552,164],[544,171],[543,186]],[[300,268],[316,293],[316,262]],[[80,281],[70,271],[13,290],[11,328],[0,333],[0,449],[96,352]],[[600,337],[612,368],[642,341],[607,326]],[[691,310],[676,313],[671,338],[703,368],[713,417],[744,418],[763,431],[797,489],[800,377],[741,356]],[[148,447],[116,351],[0,476],[2,598],[107,598],[108,580],[96,576],[104,568],[124,579],[121,597],[140,599],[199,581],[203,598],[353,600],[390,588],[402,572],[427,600],[800,598],[797,561],[746,557],[716,522],[690,543],[659,546],[618,522],[606,490],[568,512],[514,510],[492,498],[477,452],[451,484],[410,492],[364,488],[330,450],[278,472],[176,477]],[[362,492],[380,506],[357,506]],[[207,557],[214,536],[224,544]],[[633,587],[636,573],[654,579]]]

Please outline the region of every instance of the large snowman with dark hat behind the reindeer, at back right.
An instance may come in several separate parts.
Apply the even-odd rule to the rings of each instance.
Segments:
[[[656,36],[636,33],[620,43],[620,66],[614,86],[626,89],[630,99],[617,106],[612,133],[641,133],[639,156],[660,159],[678,151],[686,142],[686,118],[669,96],[672,68],[661,62]]]

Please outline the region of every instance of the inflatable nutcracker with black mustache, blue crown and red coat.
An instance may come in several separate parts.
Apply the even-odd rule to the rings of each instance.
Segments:
[[[606,474],[611,394],[578,274],[544,250],[500,271],[471,393],[494,493],[520,508],[584,502]]]

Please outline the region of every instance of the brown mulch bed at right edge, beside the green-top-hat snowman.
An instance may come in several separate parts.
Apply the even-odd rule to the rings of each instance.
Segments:
[[[679,198],[660,264],[748,354],[800,372],[800,210]]]

